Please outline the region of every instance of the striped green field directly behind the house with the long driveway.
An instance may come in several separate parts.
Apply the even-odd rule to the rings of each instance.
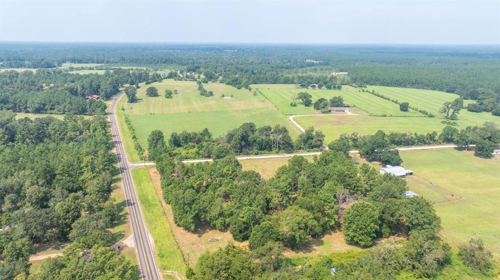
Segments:
[[[285,115],[319,114],[312,106],[303,106],[300,100],[295,101],[297,103],[296,107],[290,106],[290,102],[293,101],[294,95],[296,96],[299,92],[307,92],[312,95],[312,102],[315,102],[319,98],[329,100],[333,96],[342,96],[344,103],[355,106],[372,115],[421,116],[420,113],[412,110],[409,112],[401,112],[397,104],[369,93],[361,92],[359,89],[350,86],[342,86],[341,90],[304,89],[287,84],[252,85],[252,88],[259,89],[260,92]]]

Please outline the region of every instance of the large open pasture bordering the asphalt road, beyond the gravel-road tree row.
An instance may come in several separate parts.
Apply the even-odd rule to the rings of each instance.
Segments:
[[[159,96],[148,97],[148,87],[156,87]],[[137,103],[127,103],[125,98],[116,110],[129,116],[136,131],[139,143],[147,148],[147,137],[153,130],[161,130],[168,139],[172,132],[180,133],[201,131],[207,128],[214,137],[239,127],[243,123],[253,122],[257,127],[265,125],[286,126],[292,138],[299,131],[285,116],[261,95],[253,95],[248,90],[210,83],[203,84],[214,96],[204,97],[197,92],[195,82],[163,80],[159,83],[141,86],[137,91]],[[165,89],[177,90],[171,99],[163,97]],[[232,96],[223,99],[221,96]],[[121,108],[124,110],[121,111]]]

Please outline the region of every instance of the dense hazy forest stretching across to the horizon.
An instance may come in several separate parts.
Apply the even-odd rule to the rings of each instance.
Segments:
[[[464,95],[500,91],[497,46],[210,45],[13,43],[3,68],[56,67],[64,62],[146,66],[202,73],[234,86],[323,82],[346,71],[343,84],[434,89]]]

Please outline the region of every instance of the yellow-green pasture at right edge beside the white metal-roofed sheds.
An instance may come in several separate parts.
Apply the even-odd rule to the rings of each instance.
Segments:
[[[403,166],[413,170],[408,187],[434,202],[441,235],[457,245],[475,233],[500,256],[500,161],[471,151],[402,151]]]

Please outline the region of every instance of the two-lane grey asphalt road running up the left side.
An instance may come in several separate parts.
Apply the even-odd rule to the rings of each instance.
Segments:
[[[130,175],[130,166],[126,158],[125,149],[121,142],[119,133],[118,122],[114,114],[114,107],[123,93],[114,97],[109,106],[109,123],[111,126],[111,137],[116,149],[116,157],[118,158],[118,165],[120,169],[121,182],[123,190],[125,191],[125,199],[127,202],[127,211],[130,218],[130,226],[132,228],[133,243],[137,252],[137,260],[139,262],[139,269],[141,277],[144,280],[160,280],[158,269],[154,261],[154,251],[151,243],[149,242],[149,235],[147,233],[142,213],[139,207],[139,201],[135,193],[135,188]]]

